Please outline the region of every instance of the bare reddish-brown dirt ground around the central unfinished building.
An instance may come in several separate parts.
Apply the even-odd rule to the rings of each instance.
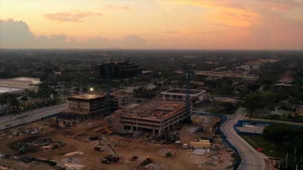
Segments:
[[[215,119],[209,127],[212,127],[216,121]],[[20,128],[25,127],[43,127],[43,131],[40,133],[32,134],[21,134],[18,136],[7,135],[4,140],[0,141],[0,151],[2,153],[11,153],[13,155],[18,155],[18,151],[13,149],[11,146],[17,142],[20,142],[27,138],[32,138],[33,136],[38,137],[49,137],[53,141],[62,141],[67,145],[64,148],[59,148],[56,150],[45,150],[38,152],[26,152],[24,156],[33,156],[35,158],[44,158],[48,160],[54,160],[57,165],[63,166],[67,163],[67,159],[72,158],[72,162],[69,164],[83,165],[82,170],[141,170],[140,164],[147,156],[151,157],[154,164],[158,165],[161,170],[219,170],[224,169],[232,163],[232,157],[224,148],[225,145],[222,143],[220,138],[215,138],[213,146],[216,145],[219,151],[212,151],[205,155],[193,155],[190,149],[178,149],[176,145],[160,145],[145,143],[140,139],[130,139],[124,138],[116,135],[107,134],[97,134],[94,129],[98,127],[107,126],[105,120],[96,119],[81,122],[75,125],[75,127],[56,129],[54,125],[43,124],[41,121],[37,121],[31,124],[22,125]],[[13,128],[14,130],[19,127]],[[188,131],[190,126],[184,126],[180,131],[180,137],[182,143],[189,144],[191,141],[199,139],[200,137],[210,137],[212,133],[210,131],[204,132],[204,134],[194,134]],[[111,164],[101,163],[101,158],[108,155],[108,151],[105,149],[104,152],[95,151],[94,147],[98,145],[98,140],[89,141],[88,138],[92,136],[100,136],[108,143],[111,148],[119,154],[120,161]],[[11,137],[9,137],[11,136]],[[81,138],[77,138],[81,137]],[[172,156],[166,157],[163,154],[159,154],[160,150],[171,151]],[[82,155],[75,154],[72,156],[65,156],[65,154],[71,152],[83,152]],[[131,161],[131,158],[137,156],[139,157],[137,161]],[[212,156],[219,156],[218,160],[211,160]],[[2,160],[2,161],[1,161]],[[7,162],[8,160],[5,160]],[[13,161],[16,162],[16,161]],[[3,159],[0,159],[0,166],[5,167],[3,164]],[[25,163],[18,163],[25,164]],[[38,163],[30,163],[38,164]],[[12,164],[9,164],[13,168]],[[15,164],[17,165],[17,164]],[[39,165],[43,165],[39,163]],[[31,166],[29,169],[24,170],[41,170],[41,168],[35,168]],[[48,167],[45,165],[45,167]],[[14,168],[18,169],[18,168]],[[45,168],[47,169],[47,168]],[[48,168],[50,169],[50,167]],[[19,170],[19,169],[18,169]],[[20,169],[22,170],[22,169]]]

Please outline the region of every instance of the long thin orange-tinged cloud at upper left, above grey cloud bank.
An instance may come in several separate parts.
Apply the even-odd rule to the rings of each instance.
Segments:
[[[103,14],[97,12],[56,12],[45,14],[46,19],[60,22],[83,22],[82,19],[90,16],[101,16]]]

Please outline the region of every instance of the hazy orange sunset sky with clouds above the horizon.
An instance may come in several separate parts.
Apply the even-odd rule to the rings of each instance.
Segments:
[[[0,48],[303,50],[303,0],[0,0]]]

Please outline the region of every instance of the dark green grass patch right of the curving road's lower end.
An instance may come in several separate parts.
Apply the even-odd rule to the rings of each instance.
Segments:
[[[281,146],[279,151],[277,145],[270,143],[268,141],[264,141],[263,136],[253,136],[253,135],[240,135],[240,136],[256,150],[258,148],[261,148],[261,152],[268,157],[285,158],[286,156],[285,147]],[[271,153],[270,152],[271,150],[273,150],[274,152]]]

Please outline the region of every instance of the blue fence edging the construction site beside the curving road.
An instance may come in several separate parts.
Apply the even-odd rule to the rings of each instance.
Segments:
[[[201,115],[201,116],[207,116],[207,115],[209,115],[209,113],[200,113],[200,112],[192,112],[192,114],[198,114],[198,115]],[[222,115],[222,114],[216,114],[216,113],[211,113],[213,116],[217,116],[217,117],[222,117],[223,118],[223,120],[220,122],[220,127],[221,127],[221,125],[226,121],[226,119],[227,119],[227,117],[226,117],[226,115]],[[235,162],[235,164],[233,165],[233,170],[237,170],[238,169],[238,167],[240,166],[240,164],[241,164],[241,158],[240,158],[240,156],[239,156],[239,153],[238,153],[238,150],[237,150],[237,148],[235,147],[235,146],[233,146],[228,140],[227,140],[227,138],[226,138],[226,136],[225,136],[225,134],[221,131],[221,128],[220,128],[220,132],[221,132],[221,135],[220,135],[220,138],[222,138],[223,139],[223,142],[226,142],[228,145],[229,145],[229,147],[230,148],[232,148],[235,152],[236,152],[236,154],[237,154],[237,160],[236,160],[236,162]]]

